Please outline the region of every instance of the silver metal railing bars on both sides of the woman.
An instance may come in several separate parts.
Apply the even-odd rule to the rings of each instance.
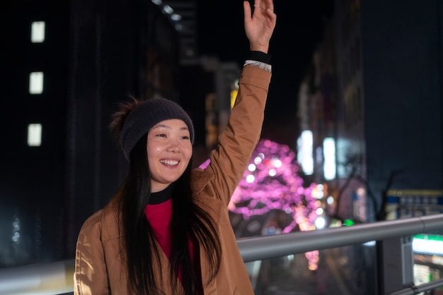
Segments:
[[[290,234],[238,239],[245,263],[313,250],[348,246],[367,241],[384,241],[443,229],[443,214],[357,224]],[[400,263],[401,264],[401,263]],[[400,267],[402,268],[402,267]],[[411,272],[399,269],[398,271]],[[74,260],[0,269],[0,294],[56,295],[73,291]],[[403,275],[403,277],[405,277]],[[406,276],[407,277],[407,276]],[[395,291],[382,294],[418,294],[443,286],[443,279],[420,286],[396,284]]]

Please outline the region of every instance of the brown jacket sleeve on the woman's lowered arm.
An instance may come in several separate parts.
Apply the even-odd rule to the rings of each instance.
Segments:
[[[101,243],[100,213],[89,217],[81,227],[76,245],[74,294],[109,294],[103,246]]]

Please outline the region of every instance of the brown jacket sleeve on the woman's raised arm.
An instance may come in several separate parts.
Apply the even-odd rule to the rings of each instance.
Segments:
[[[262,68],[243,66],[236,102],[219,145],[211,152],[207,171],[214,174],[217,198],[226,206],[260,140],[270,78],[270,72]]]

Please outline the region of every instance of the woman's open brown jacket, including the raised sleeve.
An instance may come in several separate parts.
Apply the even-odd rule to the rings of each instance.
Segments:
[[[229,200],[243,176],[260,139],[270,73],[244,66],[236,104],[226,129],[219,136],[206,169],[192,171],[195,202],[206,208],[216,222],[222,242],[222,264],[216,279],[205,287],[205,295],[253,294],[248,272],[238,251],[229,221]],[[115,198],[103,210],[89,217],[80,230],[76,246],[74,294],[114,294],[127,292],[125,265],[119,255]],[[207,261],[200,256],[202,279],[207,282]],[[156,272],[161,289],[173,295],[168,279],[168,258],[161,252],[162,270]],[[180,284],[178,284],[180,285]]]

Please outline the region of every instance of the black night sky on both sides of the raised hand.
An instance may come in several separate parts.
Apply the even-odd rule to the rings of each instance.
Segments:
[[[197,3],[200,54],[236,61],[241,66],[249,49],[243,28],[243,1]],[[274,8],[277,25],[270,44],[272,81],[265,124],[281,125],[294,119],[297,112],[299,84],[323,35],[323,23],[333,11],[333,1],[275,0]]]

